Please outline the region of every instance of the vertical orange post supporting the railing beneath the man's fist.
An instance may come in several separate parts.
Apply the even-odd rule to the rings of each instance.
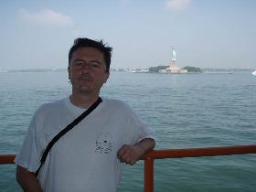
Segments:
[[[154,192],[154,158],[144,160],[144,192]]]

